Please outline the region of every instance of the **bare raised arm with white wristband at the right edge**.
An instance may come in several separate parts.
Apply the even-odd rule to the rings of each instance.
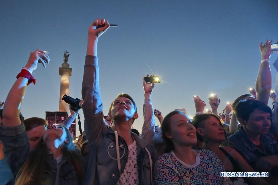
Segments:
[[[269,57],[273,53],[270,46],[272,41],[267,39],[266,43],[261,43],[259,46],[262,59],[259,74],[256,80],[256,100],[262,101],[265,104],[268,103],[268,96],[269,92],[271,91],[271,71],[269,67]]]

